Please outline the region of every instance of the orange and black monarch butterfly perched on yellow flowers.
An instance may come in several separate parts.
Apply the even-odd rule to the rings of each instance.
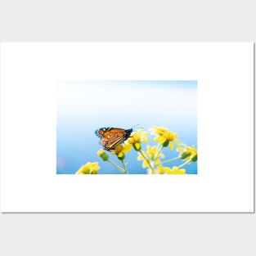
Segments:
[[[132,128],[125,130],[122,128],[99,128],[95,131],[97,137],[101,138],[101,145],[104,150],[115,150],[115,147],[122,144],[130,137]]]

